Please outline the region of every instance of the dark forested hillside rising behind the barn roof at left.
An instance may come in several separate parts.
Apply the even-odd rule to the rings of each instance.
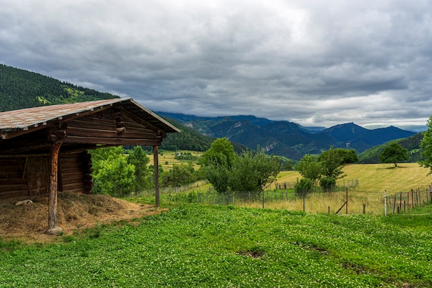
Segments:
[[[116,97],[0,64],[0,112]]]

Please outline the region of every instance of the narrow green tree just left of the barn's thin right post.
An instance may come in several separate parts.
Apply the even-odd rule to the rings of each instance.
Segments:
[[[129,151],[128,164],[135,166],[135,195],[144,189],[149,189],[153,183],[153,177],[148,169],[150,159],[141,146],[135,146]]]

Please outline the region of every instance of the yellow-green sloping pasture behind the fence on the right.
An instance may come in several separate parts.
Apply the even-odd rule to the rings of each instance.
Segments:
[[[353,181],[358,183],[357,186],[348,187],[349,214],[360,214],[364,209],[366,214],[383,215],[384,191],[387,195],[387,213],[393,213],[393,209],[397,211],[398,206],[401,213],[412,209],[413,202],[416,200],[417,204],[431,201],[429,185],[432,182],[432,175],[428,175],[429,169],[420,167],[416,163],[401,163],[397,167],[394,164],[350,164],[346,165],[343,171],[345,177],[337,181],[338,186],[349,186],[348,182],[352,184]],[[293,184],[300,177],[302,176],[297,171],[282,171],[277,177],[277,182]],[[415,198],[415,194],[411,194],[411,189],[414,192],[420,191],[418,192],[420,201]],[[189,191],[208,191],[208,184],[194,186]],[[336,213],[346,202],[346,189],[340,192],[311,193],[303,200],[300,197],[296,198],[292,189],[275,190],[275,184],[271,184],[264,191],[264,196],[264,207],[269,209],[308,213],[328,213],[330,210],[330,213]],[[234,202],[230,204],[234,206],[262,207],[262,200],[241,201],[236,197],[232,200]],[[346,206],[342,207],[339,213],[346,213]]]

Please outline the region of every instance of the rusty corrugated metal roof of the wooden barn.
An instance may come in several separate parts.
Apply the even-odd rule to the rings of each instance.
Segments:
[[[119,102],[126,104],[126,106],[130,106],[130,108],[133,108],[135,113],[140,114],[137,116],[143,117],[143,119],[146,119],[149,122],[153,122],[152,124],[159,126],[161,130],[167,133],[179,132],[175,126],[166,122],[163,118],[159,117],[159,115],[156,115],[152,111],[139,105],[131,98],[115,98],[73,104],[59,104],[2,112],[0,113],[0,130],[28,130],[32,127],[47,125],[50,121],[63,119],[70,115],[77,115],[77,113],[95,111],[104,108],[107,105],[111,106]],[[130,104],[132,104],[132,106]]]

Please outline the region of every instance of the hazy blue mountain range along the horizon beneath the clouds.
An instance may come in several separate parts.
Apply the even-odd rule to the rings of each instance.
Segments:
[[[227,137],[231,142],[268,153],[299,160],[305,154],[320,154],[328,148],[353,148],[362,153],[373,146],[415,135],[395,126],[366,129],[354,123],[330,128],[304,127],[288,121],[273,121],[252,115],[197,117],[181,113],[157,112],[210,137]]]

